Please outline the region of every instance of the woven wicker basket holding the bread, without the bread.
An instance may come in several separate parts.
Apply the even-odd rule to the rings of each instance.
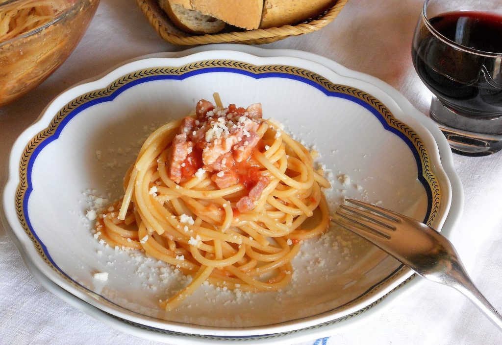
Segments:
[[[179,30],[159,7],[157,0],[137,0],[137,3],[160,37],[172,44],[193,46],[210,43],[263,44],[279,41],[290,36],[308,34],[331,23],[347,1],[338,0],[332,8],[325,11],[319,18],[295,26],[284,25],[280,28],[233,31],[212,35],[191,35]]]

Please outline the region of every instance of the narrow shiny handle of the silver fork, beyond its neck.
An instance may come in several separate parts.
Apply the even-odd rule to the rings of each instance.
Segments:
[[[469,298],[471,302],[486,315],[486,317],[498,326],[498,328],[502,329],[502,315],[500,315],[500,313],[490,304],[490,302],[488,302],[483,294],[479,292],[465,270],[460,269],[459,271],[460,272],[457,272],[459,274],[455,277],[456,284],[452,284],[452,287]]]

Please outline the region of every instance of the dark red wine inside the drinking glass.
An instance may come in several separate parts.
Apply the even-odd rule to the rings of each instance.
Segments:
[[[466,115],[502,115],[502,56],[492,56],[502,54],[502,16],[449,12],[429,22],[450,42],[479,54],[456,49],[419,27],[412,57],[422,81],[443,103]]]

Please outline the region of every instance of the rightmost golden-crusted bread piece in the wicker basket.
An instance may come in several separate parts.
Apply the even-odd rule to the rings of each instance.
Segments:
[[[331,7],[334,0],[265,0],[261,29],[295,25]]]

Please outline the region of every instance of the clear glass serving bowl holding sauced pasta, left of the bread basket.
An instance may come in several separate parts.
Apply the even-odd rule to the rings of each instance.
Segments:
[[[0,106],[37,87],[71,54],[99,0],[0,3]]]

